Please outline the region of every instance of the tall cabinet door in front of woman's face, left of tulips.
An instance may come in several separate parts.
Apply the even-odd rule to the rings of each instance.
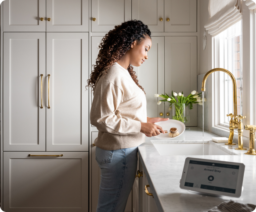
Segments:
[[[147,116],[162,117],[164,104],[157,102],[162,98],[154,94],[164,94],[164,37],[152,37],[152,46],[148,51],[148,59],[141,66],[133,67],[138,76],[139,84],[144,88],[147,99]]]

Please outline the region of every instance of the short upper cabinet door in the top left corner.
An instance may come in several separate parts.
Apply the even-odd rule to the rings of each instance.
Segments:
[[[5,0],[3,3],[3,31],[45,31],[45,0]]]

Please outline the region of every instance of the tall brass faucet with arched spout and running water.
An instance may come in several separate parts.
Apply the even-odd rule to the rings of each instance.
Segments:
[[[206,75],[204,76],[203,82],[202,82],[202,91],[206,91],[206,80],[207,77],[216,71],[223,71],[224,73],[227,73],[228,76],[231,77],[232,83],[233,83],[233,103],[234,103],[234,115],[228,114],[227,116],[230,116],[230,121],[229,121],[229,137],[228,137],[228,143],[225,143],[226,145],[235,145],[235,143],[233,143],[233,136],[234,136],[234,129],[238,129],[238,148],[235,149],[239,149],[239,150],[244,150],[245,148],[243,148],[243,123],[242,123],[242,119],[246,118],[245,116],[242,115],[238,115],[237,114],[237,93],[236,93],[236,81],[235,78],[233,76],[233,74],[226,70],[226,69],[222,69],[222,68],[216,68],[216,69],[212,69],[210,71],[208,71],[206,73]],[[233,119],[234,118],[234,119]]]

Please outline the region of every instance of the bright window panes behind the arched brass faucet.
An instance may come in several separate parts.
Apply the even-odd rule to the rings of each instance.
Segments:
[[[214,66],[229,70],[235,77],[237,86],[237,109],[238,115],[242,115],[242,45],[241,45],[241,21],[227,28],[213,38]],[[230,117],[234,114],[233,106],[233,84],[230,76],[224,72],[216,72],[216,125],[229,127]]]

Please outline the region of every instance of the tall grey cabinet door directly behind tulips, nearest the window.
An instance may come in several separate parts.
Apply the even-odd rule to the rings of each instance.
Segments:
[[[197,38],[196,36],[165,37],[165,92],[176,91],[188,96],[197,90]],[[160,104],[161,105],[161,104]],[[197,126],[197,104],[190,110],[190,123]],[[165,104],[165,118],[169,104]],[[170,117],[171,118],[171,117]]]

